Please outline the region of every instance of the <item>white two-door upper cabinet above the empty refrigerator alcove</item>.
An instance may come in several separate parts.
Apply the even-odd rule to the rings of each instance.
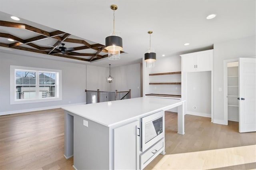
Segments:
[[[182,71],[211,71],[213,49],[180,55],[182,57]]]

